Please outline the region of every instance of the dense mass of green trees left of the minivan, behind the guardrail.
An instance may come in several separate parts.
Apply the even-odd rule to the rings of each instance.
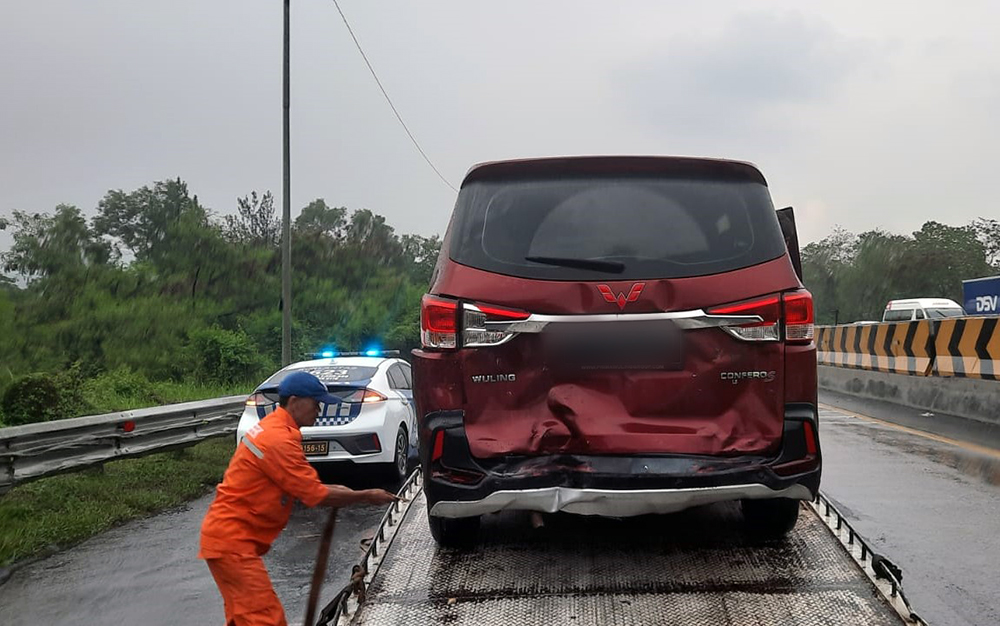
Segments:
[[[27,372],[128,372],[129,380],[249,382],[277,367],[280,269],[270,194],[217,218],[181,180],[112,190],[88,220],[60,205],[0,224],[0,390]],[[322,199],[293,231],[293,351],[368,342],[408,349],[437,237]],[[79,366],[74,366],[79,364]],[[76,367],[76,369],[73,369]],[[240,379],[240,380],[237,380]]]

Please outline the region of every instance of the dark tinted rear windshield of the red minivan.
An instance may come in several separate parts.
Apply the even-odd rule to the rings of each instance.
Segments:
[[[767,187],[742,180],[476,181],[462,188],[451,231],[456,263],[549,280],[703,276],[785,253]]]

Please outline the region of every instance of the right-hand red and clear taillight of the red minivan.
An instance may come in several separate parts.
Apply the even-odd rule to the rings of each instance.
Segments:
[[[789,343],[809,343],[816,332],[812,294],[805,289],[713,307],[708,313],[759,317],[758,321],[724,327],[745,341],[778,341],[782,326]]]

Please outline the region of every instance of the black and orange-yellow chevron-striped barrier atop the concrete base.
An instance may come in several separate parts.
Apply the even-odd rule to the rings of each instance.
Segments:
[[[1000,318],[820,326],[821,365],[1000,380]]]

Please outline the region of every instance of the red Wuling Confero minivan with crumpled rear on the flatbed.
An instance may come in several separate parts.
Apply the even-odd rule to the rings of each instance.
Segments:
[[[820,482],[812,296],[791,209],[748,163],[473,167],[421,307],[431,532],[502,510],[739,501],[780,536]]]

